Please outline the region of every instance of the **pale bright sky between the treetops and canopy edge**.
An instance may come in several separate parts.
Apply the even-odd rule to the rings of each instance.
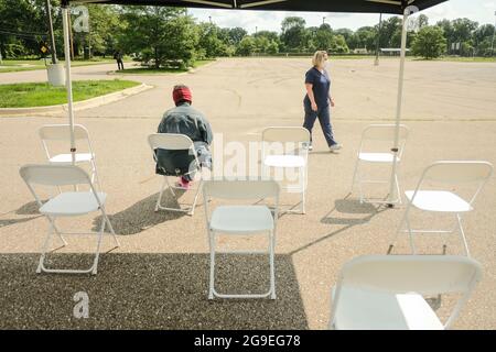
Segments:
[[[420,13],[429,16],[429,24],[435,24],[439,20],[468,18],[479,24],[495,23],[496,0],[450,0]],[[233,10],[198,10],[191,9],[188,12],[201,22],[212,22],[220,28],[241,26],[254,33],[258,31],[280,32],[281,22],[288,15],[302,16],[308,26],[319,26],[324,21],[333,29],[347,28],[357,30],[365,25],[375,25],[379,22],[377,13],[315,13],[315,12],[284,12],[284,11],[233,11]],[[242,14],[242,15],[240,15]],[[385,14],[382,19],[391,15]]]

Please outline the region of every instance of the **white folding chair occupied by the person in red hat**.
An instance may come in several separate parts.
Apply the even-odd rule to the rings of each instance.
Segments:
[[[153,133],[148,136],[148,143],[150,144],[150,147],[153,151],[153,157],[155,158],[155,162],[157,162],[155,152],[159,148],[166,150],[166,151],[188,151],[188,155],[192,155],[194,157],[192,165],[190,165],[190,172],[187,172],[185,174],[171,172],[166,176],[163,176],[162,186],[160,187],[159,199],[157,199],[157,205],[155,205],[155,211],[159,211],[159,209],[161,209],[161,210],[186,212],[187,215],[193,216],[195,212],[195,207],[196,207],[200,191],[202,190],[202,187],[203,187],[202,165],[200,164],[198,156],[196,154],[196,150],[195,150],[195,145],[194,145],[193,141],[187,135],[184,135],[184,134]],[[198,185],[196,186],[196,189],[195,189],[195,197],[194,197],[193,204],[183,208],[182,205],[179,202],[179,199],[174,191],[174,189],[183,189],[183,188],[176,187],[174,184],[171,185],[171,183],[169,182],[169,177],[172,177],[172,176],[180,177],[180,176],[185,176],[188,174],[198,175],[200,180],[198,180]],[[179,208],[163,207],[161,205],[162,195],[163,195],[163,190],[165,189],[165,186],[168,186],[169,190],[172,194],[172,197],[174,197],[174,199],[177,201]]]

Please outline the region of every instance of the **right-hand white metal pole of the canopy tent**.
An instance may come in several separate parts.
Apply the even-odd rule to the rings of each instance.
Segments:
[[[396,105],[396,128],[395,128],[395,143],[391,148],[393,158],[392,158],[392,169],[391,169],[391,180],[389,185],[389,207],[393,207],[396,199],[399,199],[401,195],[396,195],[395,187],[395,175],[397,170],[397,155],[398,155],[398,144],[399,144],[399,131],[401,123],[401,107],[403,102],[403,77],[405,77],[405,58],[407,53],[407,21],[408,21],[409,10],[406,9],[403,12],[403,23],[401,29],[401,56],[400,56],[400,72],[398,77],[398,100]]]

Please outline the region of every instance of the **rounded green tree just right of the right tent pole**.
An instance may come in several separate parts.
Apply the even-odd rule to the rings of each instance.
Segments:
[[[441,56],[446,50],[446,38],[439,26],[424,26],[416,36],[412,45],[413,55],[431,59]]]

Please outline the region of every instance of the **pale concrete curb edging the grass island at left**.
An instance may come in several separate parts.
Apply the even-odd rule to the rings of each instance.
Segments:
[[[83,100],[74,102],[74,111],[79,111],[89,108],[96,108],[109,102],[115,102],[127,97],[143,92],[153,88],[153,86],[148,86],[145,84],[141,84],[137,87],[127,88],[123,90],[115,91],[105,96],[95,97],[91,99]],[[62,113],[67,111],[67,105],[57,105],[57,106],[48,106],[48,107],[34,107],[34,108],[0,108],[0,117],[10,116],[32,116],[32,114],[45,114],[45,113]]]

